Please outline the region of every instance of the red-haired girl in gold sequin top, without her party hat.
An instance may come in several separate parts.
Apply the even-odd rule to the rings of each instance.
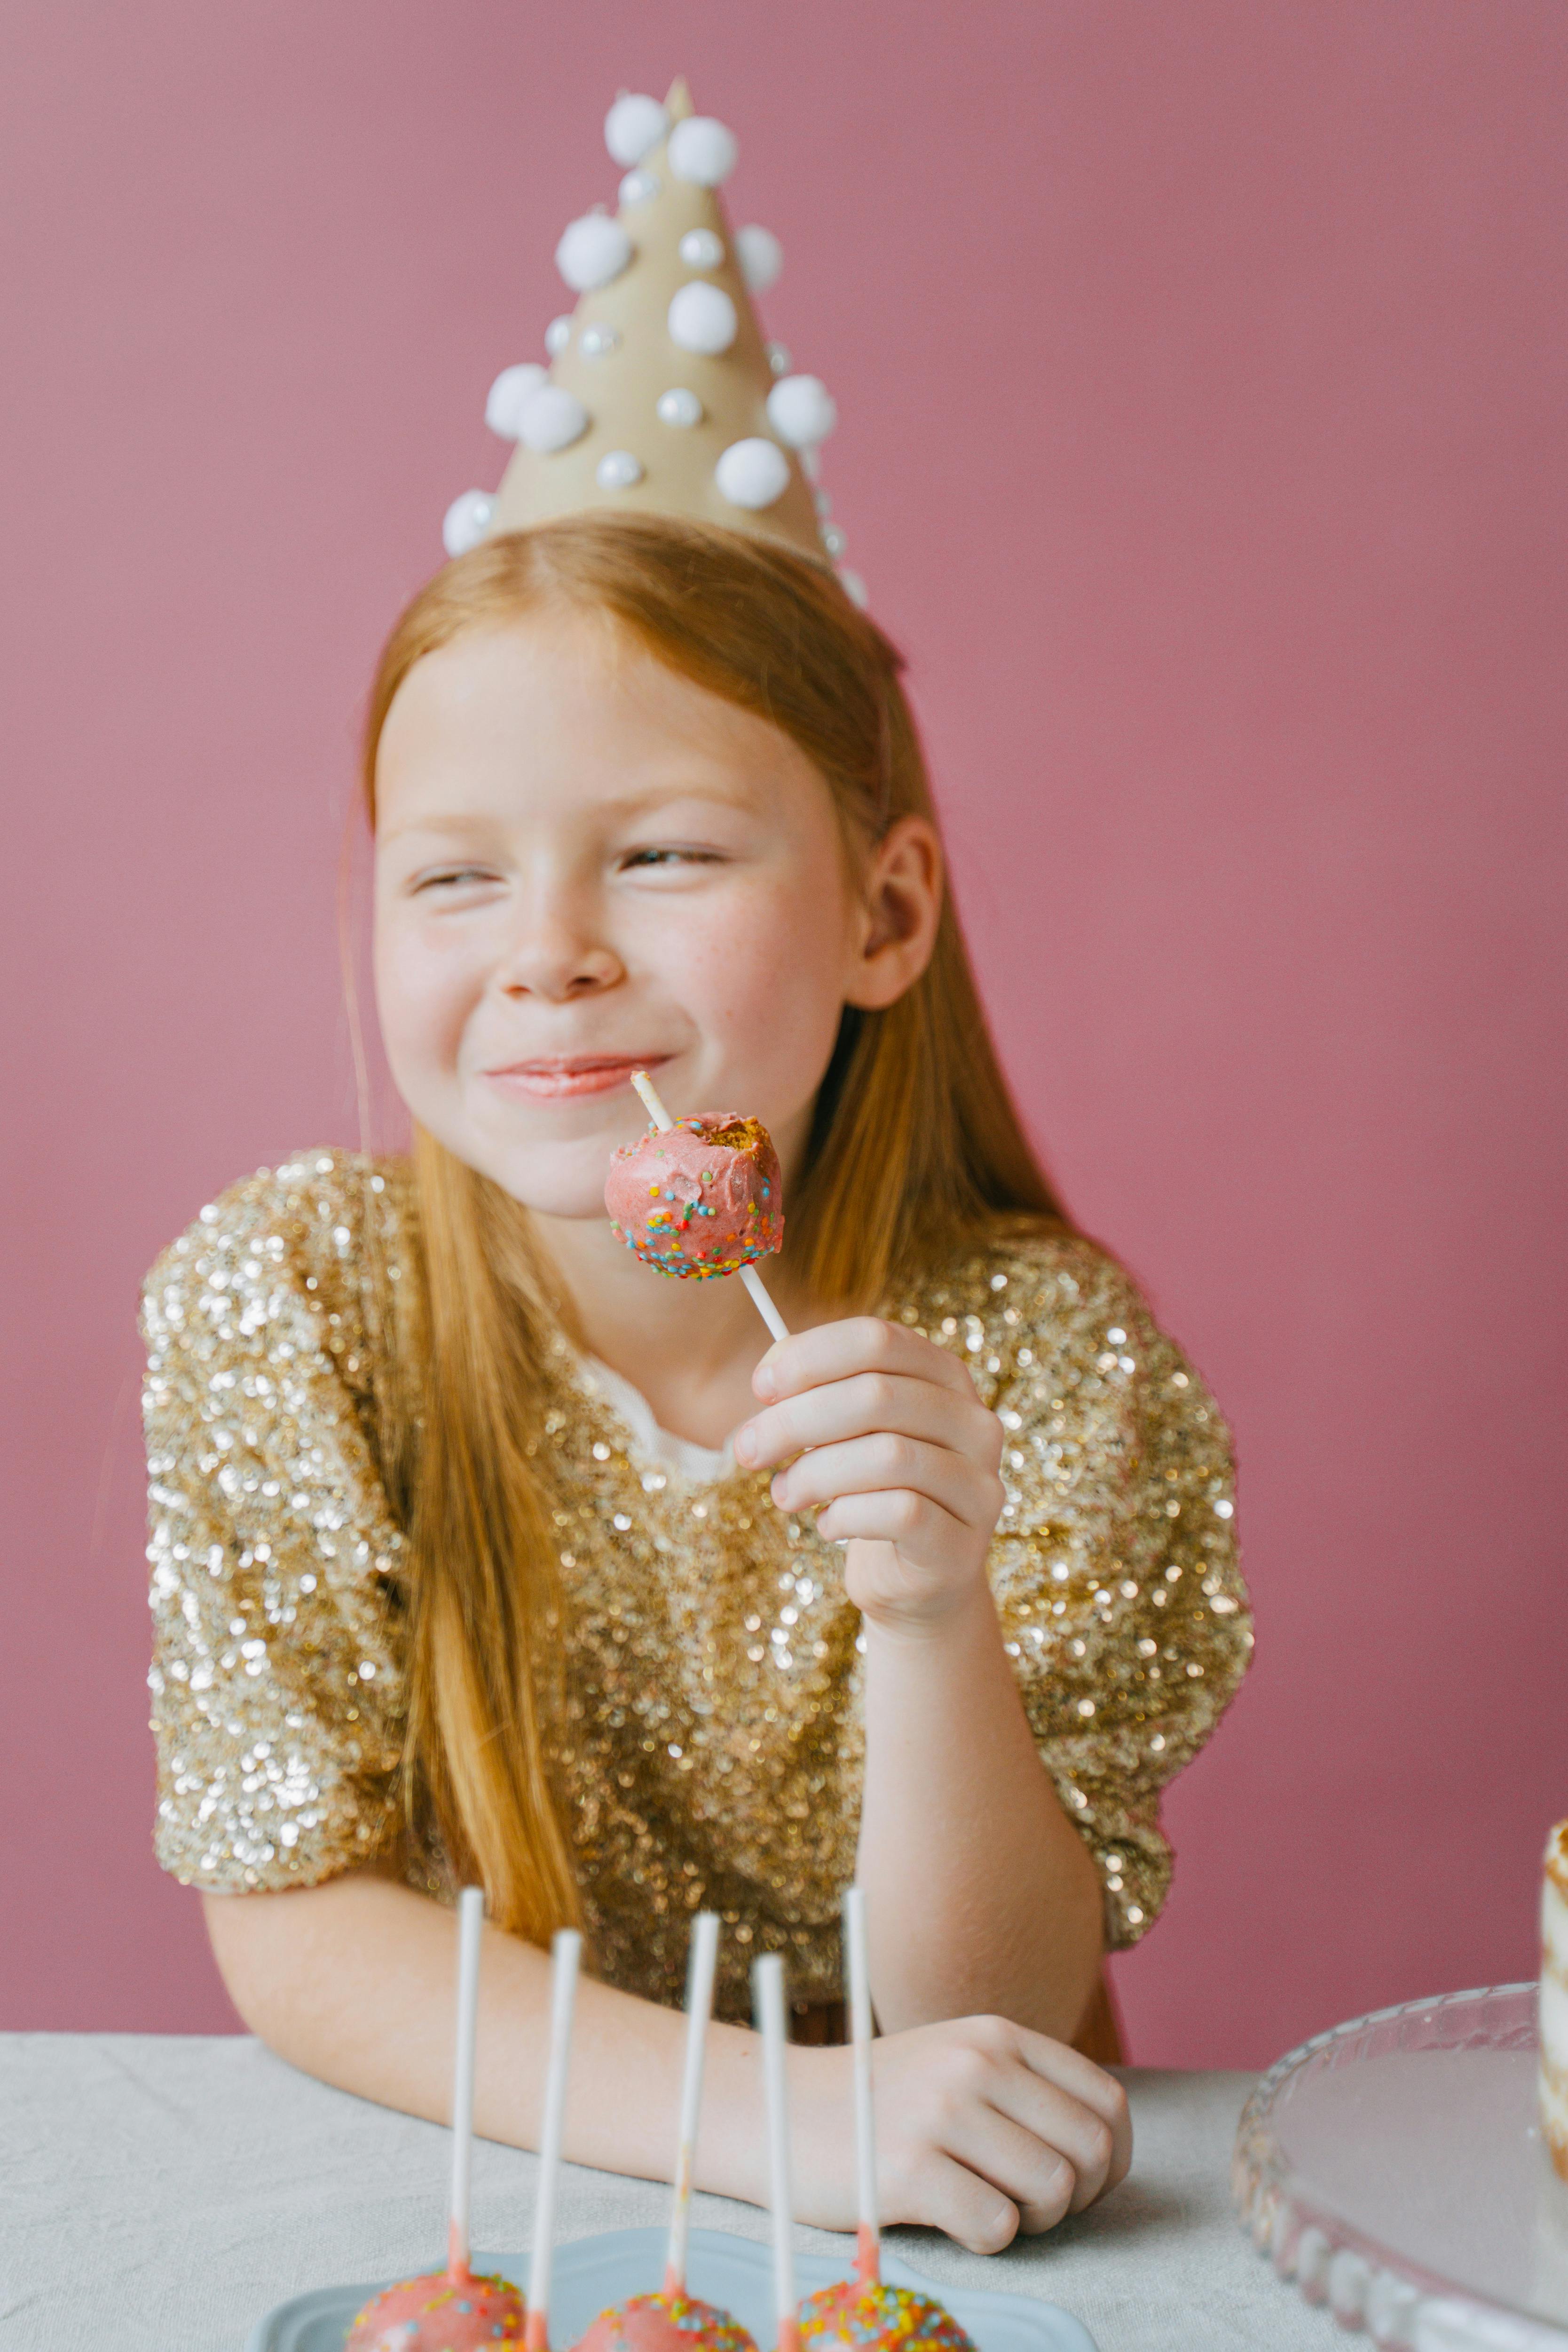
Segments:
[[[517,2145],[581,1919],[567,2152],[649,2178],[712,1905],[731,2018],[788,1952],[830,2227],[858,1875],[884,2213],[985,2251],[1126,2171],[1072,2042],[1251,1635],[1222,1423],[1020,1131],[898,673],[820,564],[661,515],[508,532],[397,623],[364,790],[411,1160],[261,1171],[146,1287],[158,1842],[247,2023],[425,2117],[477,1877]],[[635,1068],[773,1134],[766,1352],[609,1228]],[[701,2185],[764,2197],[757,2112],[722,2025]]]

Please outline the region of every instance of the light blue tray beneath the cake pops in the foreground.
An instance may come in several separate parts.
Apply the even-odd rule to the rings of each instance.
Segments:
[[[552,2345],[564,2352],[609,2303],[651,2293],[663,2279],[665,2244],[665,2230],[604,2230],[599,2237],[557,2246],[550,2281]],[[820,2253],[795,2258],[802,2296],[832,2286],[853,2267],[853,2241],[846,2241],[846,2249],[844,2263],[825,2260]],[[498,2270],[517,2284],[529,2277],[527,2253],[475,2253],[473,2267]],[[884,2256],[882,2274],[889,2286],[914,2286],[938,2296],[978,2352],[1095,2352],[1088,2328],[1056,2303],[997,2296],[987,2286],[938,2288],[896,2256]],[[343,2352],[343,2336],[355,2314],[388,2284],[367,2279],[360,2286],[317,2286],[310,2296],[294,2296],[252,2328],[244,2352]],[[733,2312],[766,2352],[776,2333],[773,2265],[766,2246],[722,2230],[693,2230],[686,2284],[703,2303]]]

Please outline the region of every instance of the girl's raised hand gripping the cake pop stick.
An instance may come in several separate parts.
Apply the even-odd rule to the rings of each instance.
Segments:
[[[736,1430],[736,1461],[788,1463],[773,1501],[849,1543],[849,1597],[867,1618],[931,1625],[985,1588],[1001,1423],[957,1357],[853,1315],[778,1341],[752,1388],[764,1411]]]

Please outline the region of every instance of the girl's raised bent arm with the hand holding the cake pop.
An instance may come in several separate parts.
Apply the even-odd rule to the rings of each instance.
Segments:
[[[985,1573],[1001,1425],[966,1369],[875,1317],[780,1341],[743,1463],[846,1541],[865,1613],[860,1884],[884,2027],[997,2011],[1067,2039],[1100,1969],[1100,1882],[1039,1762]],[[802,1451],[809,1449],[809,1451]]]

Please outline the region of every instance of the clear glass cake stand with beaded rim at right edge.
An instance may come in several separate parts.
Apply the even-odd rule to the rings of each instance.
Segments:
[[[1535,2072],[1535,1985],[1302,2042],[1237,2129],[1244,2227],[1281,2279],[1392,2352],[1568,2352],[1568,2183]]]

